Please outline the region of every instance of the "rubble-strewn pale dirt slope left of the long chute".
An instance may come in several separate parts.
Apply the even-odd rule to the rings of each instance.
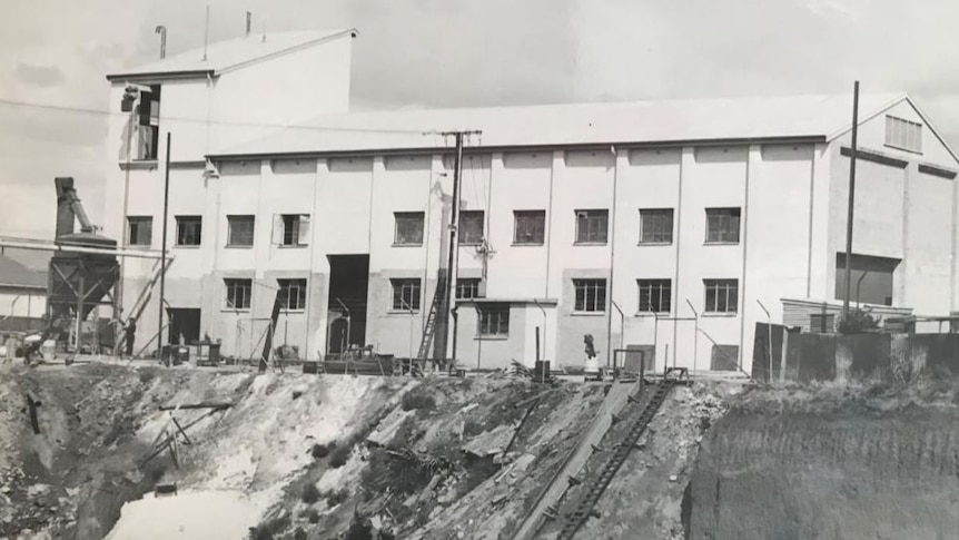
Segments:
[[[497,538],[602,399],[510,380],[3,367],[0,538]],[[159,411],[204,401],[233,406]],[[178,463],[145,463],[174,418],[189,424]],[[158,482],[179,494],[154,499]],[[209,536],[214,512],[234,532]]]

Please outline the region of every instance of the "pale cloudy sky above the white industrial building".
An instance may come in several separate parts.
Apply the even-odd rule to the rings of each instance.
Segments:
[[[959,146],[955,0],[208,0],[210,41],[355,27],[354,109],[906,90]],[[103,76],[200,47],[196,0],[0,1],[0,235],[97,222]],[[52,105],[63,109],[13,104]],[[78,110],[79,109],[79,110]]]

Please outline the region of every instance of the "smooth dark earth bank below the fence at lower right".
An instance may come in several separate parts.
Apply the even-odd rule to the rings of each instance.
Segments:
[[[703,443],[689,538],[956,538],[957,402],[921,383],[745,394]]]

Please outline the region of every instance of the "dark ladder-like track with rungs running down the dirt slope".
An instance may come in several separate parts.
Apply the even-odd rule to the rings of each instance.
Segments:
[[[630,426],[630,431],[626,432],[626,435],[620,444],[615,446],[613,454],[610,456],[609,461],[606,461],[606,464],[600,471],[600,474],[590,479],[589,484],[585,487],[586,491],[576,503],[575,509],[566,516],[563,528],[560,531],[560,536],[556,537],[558,540],[571,540],[576,534],[576,531],[579,531],[580,528],[583,527],[583,523],[585,523],[590,518],[593,507],[595,507],[596,502],[600,501],[603,492],[606,491],[610,482],[613,481],[613,477],[626,461],[626,458],[630,455],[630,452],[632,452],[636,441],[639,441],[643,432],[646,431],[646,426],[650,425],[653,416],[656,415],[656,412],[666,400],[666,396],[670,395],[670,391],[673,389],[675,383],[675,379],[666,377],[656,384],[655,391],[646,403],[646,406],[643,409],[642,414],[640,414],[640,418],[637,418],[633,425]]]

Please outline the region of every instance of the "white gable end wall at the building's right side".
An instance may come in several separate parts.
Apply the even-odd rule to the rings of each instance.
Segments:
[[[862,122],[860,150],[907,161],[904,166],[857,159],[852,252],[899,258],[893,274],[894,306],[912,307],[918,315],[947,315],[956,308],[955,253],[957,251],[956,179],[919,171],[919,164],[956,170],[947,148],[923,126],[922,151],[886,146],[886,116],[925,124],[908,102]],[[846,134],[830,145],[828,283],[822,297],[834,296],[836,254],[846,251],[850,158],[840,148],[851,145]]]

